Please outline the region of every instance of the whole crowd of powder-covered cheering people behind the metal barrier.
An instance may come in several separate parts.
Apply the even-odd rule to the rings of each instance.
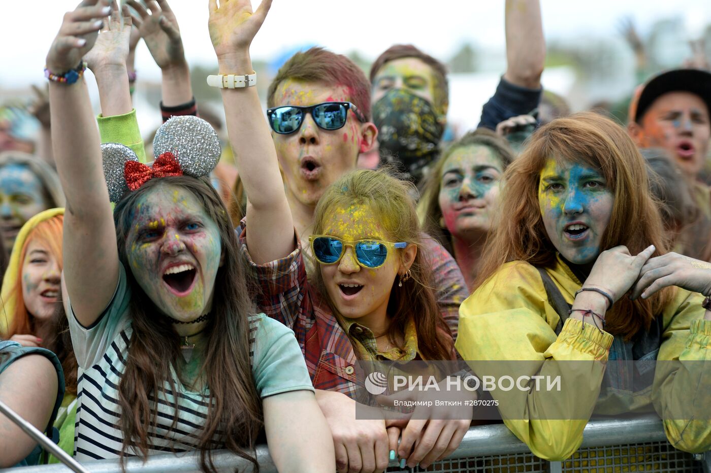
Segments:
[[[40,138],[0,115],[0,401],[80,462],[195,450],[213,472],[214,450],[257,467],[266,441],[284,472],[426,469],[476,408],[359,418],[376,403],[358,361],[506,361],[575,386],[486,393],[538,457],[573,455],[593,415],[651,411],[674,447],[711,450],[711,421],[676,414],[709,411],[705,371],[658,364],[637,386],[606,363],[711,357],[711,72],[648,78],[628,124],[542,107],[539,0],[506,0],[506,72],[443,146],[436,58],[393,45],[367,77],[314,47],[265,111],[250,44],[279,6],[205,3],[226,142],[168,0],[82,1],[48,50]],[[149,149],[141,39],[162,74]],[[0,466],[59,461],[0,431]]]

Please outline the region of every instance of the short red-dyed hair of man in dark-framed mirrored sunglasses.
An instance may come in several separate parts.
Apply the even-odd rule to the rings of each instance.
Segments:
[[[321,82],[326,85],[342,85],[348,89],[348,98],[370,120],[370,82],[363,70],[346,56],[324,48],[311,48],[294,54],[277,72],[269,84],[267,107],[274,107],[274,93],[285,80]]]

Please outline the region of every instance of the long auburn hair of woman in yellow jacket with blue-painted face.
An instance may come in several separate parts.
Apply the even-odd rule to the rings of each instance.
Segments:
[[[554,263],[557,250],[547,236],[538,203],[540,171],[549,158],[596,168],[604,175],[614,204],[600,251],[625,245],[631,254],[638,254],[650,244],[656,246],[653,256],[668,251],[659,203],[649,191],[646,165],[619,124],[592,112],[575,114],[542,126],[529,140],[504,174],[501,219],[483,251],[475,288],[508,261],[526,261],[538,267]],[[634,231],[630,231],[631,222]],[[648,330],[674,292],[674,288],[664,288],[646,300],[621,298],[608,312],[605,330],[625,339]]]

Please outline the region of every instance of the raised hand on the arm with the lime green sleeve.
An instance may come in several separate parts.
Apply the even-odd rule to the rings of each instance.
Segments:
[[[84,56],[92,72],[96,73],[102,67],[126,67],[131,25],[132,19],[128,7],[124,5],[119,11],[114,0],[113,10],[109,20],[105,22],[105,28],[99,33],[94,47]]]

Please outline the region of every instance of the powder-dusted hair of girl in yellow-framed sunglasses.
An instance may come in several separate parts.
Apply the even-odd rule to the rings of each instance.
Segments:
[[[422,232],[417,222],[415,202],[410,197],[414,186],[390,175],[390,170],[354,170],[333,183],[316,205],[314,234],[323,234],[326,221],[335,207],[367,205],[387,231],[390,241],[407,241],[417,245],[415,261],[410,266],[412,278],[398,287],[392,281],[387,314],[391,322],[387,337],[397,344],[397,335],[405,335],[407,322],[412,318],[417,331],[417,347],[423,359],[448,360],[454,358],[454,340],[449,327],[439,313],[437,299],[432,289],[432,265],[422,251]],[[395,250],[397,251],[397,250]],[[328,298],[321,271],[315,271],[314,280],[328,305],[341,317]],[[339,320],[340,321],[340,320]]]

